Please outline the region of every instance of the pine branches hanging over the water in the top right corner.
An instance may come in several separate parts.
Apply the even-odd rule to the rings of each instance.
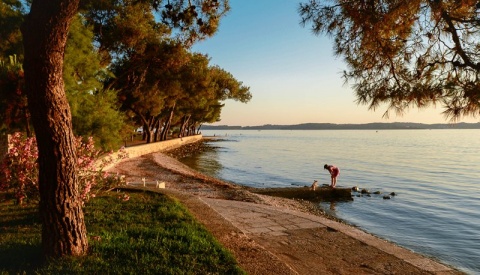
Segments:
[[[404,113],[440,104],[451,120],[480,113],[480,4],[474,0],[310,0],[304,25],[334,39],[357,102]]]

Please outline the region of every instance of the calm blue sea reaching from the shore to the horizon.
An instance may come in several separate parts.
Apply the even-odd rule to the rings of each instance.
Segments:
[[[203,131],[215,149],[193,168],[253,187],[329,184],[397,196],[322,203],[331,214],[412,251],[480,274],[480,130]]]

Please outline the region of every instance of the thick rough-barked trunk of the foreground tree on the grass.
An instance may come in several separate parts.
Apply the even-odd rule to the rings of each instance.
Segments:
[[[46,257],[83,255],[88,242],[76,176],[75,140],[63,83],[68,28],[79,0],[33,0],[22,26],[28,107],[39,150]]]

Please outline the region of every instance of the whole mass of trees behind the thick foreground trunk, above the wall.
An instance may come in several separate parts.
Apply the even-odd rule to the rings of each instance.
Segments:
[[[195,22],[185,23],[170,18],[180,6],[162,6],[158,19],[152,3],[84,1],[70,26],[63,80],[73,131],[93,136],[105,150],[118,148],[138,127],[146,142],[195,134],[220,120],[225,100],[251,99],[249,87],[189,50],[214,33],[228,8],[216,1],[204,2],[216,9],[187,6],[182,20]],[[0,131],[31,136],[20,31],[29,9],[20,0],[0,3]]]

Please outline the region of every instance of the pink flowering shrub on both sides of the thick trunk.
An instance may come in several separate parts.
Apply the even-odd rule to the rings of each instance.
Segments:
[[[0,165],[5,178],[5,181],[0,182],[0,190],[13,192],[19,204],[24,199],[38,200],[38,149],[35,138],[22,138],[20,133],[15,133],[9,144],[11,146]],[[116,158],[110,153],[98,161],[101,151],[95,149],[93,138],[82,142],[82,138],[78,137],[75,146],[77,178],[83,202],[102,190],[125,184],[124,177],[110,175],[102,170],[118,159],[128,157],[125,150],[120,150]]]

